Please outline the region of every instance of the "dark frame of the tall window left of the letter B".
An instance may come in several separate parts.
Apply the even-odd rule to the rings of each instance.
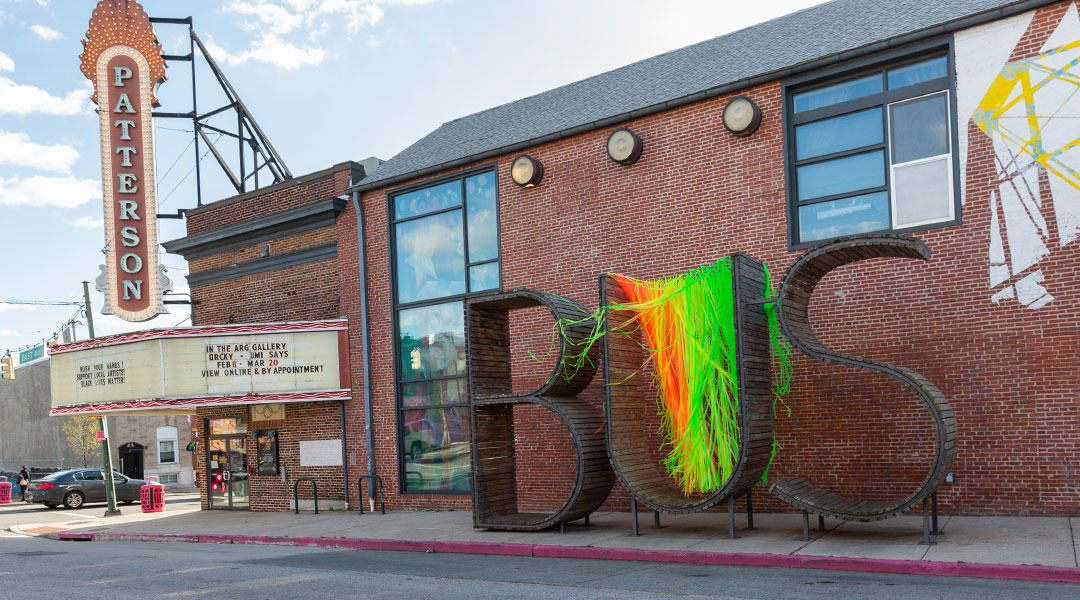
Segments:
[[[464,190],[464,180],[474,175],[481,175],[484,173],[490,173],[495,178],[495,228],[496,228],[496,246],[498,248],[498,254],[496,258],[489,260],[481,260],[476,262],[469,261],[469,199]],[[396,218],[396,210],[394,207],[394,199],[401,194],[414,192],[416,190],[422,190],[424,188],[431,188],[435,186],[441,186],[448,181],[458,180],[461,182],[461,205],[453,206],[448,208],[442,208],[438,210],[432,210],[431,213],[424,213],[423,215],[413,215],[408,217],[403,217],[401,219]],[[388,235],[388,255],[390,261],[390,294],[391,294],[391,330],[393,335],[393,365],[394,365],[394,437],[395,446],[397,447],[397,493],[402,495],[472,495],[472,481],[470,481],[469,490],[408,490],[406,489],[405,481],[405,446],[404,446],[404,435],[403,427],[405,424],[404,414],[406,411],[422,410],[428,411],[431,409],[450,409],[458,408],[467,412],[467,421],[471,423],[471,414],[469,411],[469,398],[468,398],[468,369],[469,365],[465,365],[465,373],[461,376],[438,376],[429,377],[422,379],[410,379],[405,380],[401,368],[401,330],[399,327],[400,314],[404,310],[418,309],[426,306],[435,306],[438,304],[447,304],[449,302],[462,302],[467,298],[473,296],[480,296],[485,294],[497,294],[502,291],[502,221],[500,207],[500,186],[499,186],[499,163],[486,163],[475,167],[471,167],[464,171],[459,171],[453,174],[448,174],[441,177],[435,177],[432,179],[426,179],[423,181],[418,181],[408,186],[403,186],[401,188],[394,188],[388,190],[386,193],[387,201],[387,235]],[[417,300],[413,302],[401,302],[397,297],[397,237],[396,237],[396,226],[414,221],[417,219],[422,219],[426,217],[431,217],[433,215],[442,215],[449,213],[451,210],[461,210],[461,233],[462,243],[464,244],[464,283],[465,292],[455,294],[451,296],[443,296],[438,298],[429,298],[426,300]],[[482,291],[471,291],[471,281],[470,281],[470,269],[481,264],[489,264],[492,262],[498,262],[499,264],[499,283],[498,286],[491,289],[485,289]],[[465,327],[463,331],[464,341],[469,343],[469,328]],[[403,403],[402,388],[408,383],[424,383],[433,381],[446,381],[446,380],[463,380],[465,386],[465,395],[462,397],[461,403],[456,404],[445,404],[445,405],[422,405],[416,407],[405,407]],[[471,429],[471,425],[470,425]],[[469,444],[473,442],[472,432],[469,432]]]

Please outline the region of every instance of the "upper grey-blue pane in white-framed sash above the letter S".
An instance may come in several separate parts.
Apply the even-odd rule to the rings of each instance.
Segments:
[[[892,164],[948,152],[948,107],[945,94],[892,105]]]

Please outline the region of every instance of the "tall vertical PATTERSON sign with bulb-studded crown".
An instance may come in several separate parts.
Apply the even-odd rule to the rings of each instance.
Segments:
[[[97,3],[81,70],[93,83],[102,133],[105,255],[97,289],[103,314],[132,322],[167,312],[171,288],[158,261],[158,180],[153,114],[165,80],[162,47],[135,0]]]

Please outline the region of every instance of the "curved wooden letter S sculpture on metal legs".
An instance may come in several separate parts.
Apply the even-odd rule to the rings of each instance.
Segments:
[[[869,360],[828,349],[810,325],[809,304],[814,287],[831,271],[879,257],[914,258],[928,260],[930,249],[922,242],[894,235],[866,235],[823,244],[802,255],[787,270],[778,294],[780,326],[792,344],[813,358],[849,367],[869,369],[900,380],[923,401],[934,421],[936,452],[933,466],[919,487],[908,495],[887,502],[863,502],[843,497],[818,488],[799,477],[773,483],[772,493],[802,510],[802,534],[810,538],[809,514],[819,515],[824,530],[826,516],[848,521],[876,521],[901,515],[922,502],[923,543],[931,543],[930,533],[937,532],[936,491],[953,468],[957,453],[956,417],[948,400],[936,385],[927,378],[905,367]],[[927,500],[934,504],[933,527]]]

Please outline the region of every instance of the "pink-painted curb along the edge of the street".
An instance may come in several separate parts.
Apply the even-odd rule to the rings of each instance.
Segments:
[[[497,542],[424,542],[411,540],[365,540],[346,537],[285,537],[273,535],[221,535],[180,533],[95,533],[65,531],[58,540],[71,542],[184,542],[190,544],[267,544],[355,550],[394,550],[406,553],[453,553],[544,558],[585,558],[599,560],[637,560],[684,564],[739,567],[783,567],[825,569],[864,573],[985,577],[1032,582],[1080,583],[1080,569],[1027,564],[989,564],[976,562],[929,562],[831,556],[767,555],[753,553],[705,553],[693,550],[642,550],[590,546],[552,546]]]

